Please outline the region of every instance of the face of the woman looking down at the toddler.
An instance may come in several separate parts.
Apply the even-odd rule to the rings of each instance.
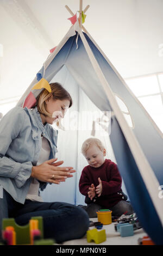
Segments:
[[[70,106],[70,100],[53,100],[49,98],[46,100],[46,110],[48,113],[52,114],[51,117],[45,117],[45,122],[48,124],[53,124],[60,118],[64,118],[65,112]]]

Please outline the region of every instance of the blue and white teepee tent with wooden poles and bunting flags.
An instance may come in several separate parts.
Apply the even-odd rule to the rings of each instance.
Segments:
[[[151,239],[163,244],[163,202],[159,197],[163,184],[162,133],[82,25],[81,0],[79,19],[78,14],[72,11],[71,14],[73,25],[48,56],[17,106],[31,107],[42,90],[33,87],[45,79],[48,83],[62,82],[68,92],[72,91],[72,97],[79,100],[84,93],[98,109],[110,111],[108,137],[131,204]],[[77,110],[82,109],[77,106]],[[130,126],[126,116],[130,117]],[[74,140],[78,137],[79,134]]]

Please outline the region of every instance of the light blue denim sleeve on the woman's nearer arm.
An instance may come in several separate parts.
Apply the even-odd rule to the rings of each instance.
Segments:
[[[32,162],[18,163],[5,154],[22,129],[24,113],[21,108],[12,108],[0,122],[0,175],[15,179],[18,188],[24,185],[32,172]]]

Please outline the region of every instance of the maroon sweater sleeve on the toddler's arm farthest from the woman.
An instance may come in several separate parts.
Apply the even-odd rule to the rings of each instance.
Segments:
[[[118,171],[117,164],[112,162],[107,167],[109,181],[102,181],[102,194],[101,196],[108,196],[109,194],[117,193],[121,190],[122,178]]]

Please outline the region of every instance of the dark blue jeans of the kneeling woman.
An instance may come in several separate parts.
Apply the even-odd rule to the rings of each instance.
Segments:
[[[0,199],[0,236],[2,218],[15,218],[17,224],[25,225],[33,216],[42,216],[44,238],[55,239],[57,243],[83,237],[90,224],[87,213],[72,204],[31,200],[20,204],[3,190],[3,199]]]

